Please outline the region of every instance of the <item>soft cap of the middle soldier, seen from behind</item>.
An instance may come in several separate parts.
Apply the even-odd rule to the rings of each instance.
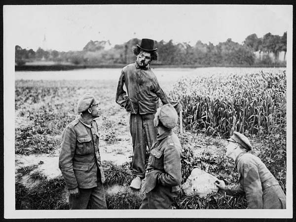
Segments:
[[[153,120],[154,126],[158,126],[158,121],[168,129],[173,129],[177,125],[178,114],[171,104],[166,104],[159,108]]]

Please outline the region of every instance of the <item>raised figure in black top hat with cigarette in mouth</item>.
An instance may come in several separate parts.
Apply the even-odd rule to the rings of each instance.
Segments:
[[[146,147],[150,150],[156,139],[157,130],[153,126],[153,119],[159,99],[163,104],[172,104],[178,113],[182,111],[181,104],[169,98],[160,88],[149,67],[152,60],[157,60],[156,50],[152,39],[143,38],[141,45],[137,44],[134,48],[136,62],[122,69],[116,91],[116,103],[131,113],[132,170],[135,177],[130,186],[135,189],[140,188],[141,180],[145,177]],[[127,92],[123,89],[124,85]]]

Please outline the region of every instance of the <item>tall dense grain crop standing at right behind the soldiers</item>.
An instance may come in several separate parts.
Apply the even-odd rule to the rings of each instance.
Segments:
[[[171,96],[181,101],[185,129],[229,136],[268,134],[286,126],[286,72],[183,78]]]

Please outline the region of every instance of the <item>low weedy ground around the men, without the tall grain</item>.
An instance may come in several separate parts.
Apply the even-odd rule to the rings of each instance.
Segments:
[[[129,134],[129,116],[115,104],[117,81],[59,80],[15,82],[15,153],[16,153],[16,209],[68,209],[68,193],[58,169],[60,135],[67,124],[74,120],[79,97],[91,92],[100,101],[101,137],[100,151],[104,161],[107,181],[106,200],[109,209],[138,209],[142,193],[134,192],[128,184],[132,180]],[[170,88],[162,85],[163,88]],[[286,165],[274,161],[284,155],[285,135],[281,131],[277,139],[250,137],[256,155],[264,155],[265,164],[285,189]],[[198,167],[222,179],[226,184],[237,183],[237,170],[233,161],[224,157],[225,140],[219,136],[207,136],[204,131],[186,131],[180,134],[182,176],[184,183],[193,168]],[[262,139],[264,138],[264,139]],[[282,139],[282,140],[281,140]],[[279,143],[279,141],[282,141]],[[278,146],[272,151],[266,146]],[[282,157],[282,159],[284,158]],[[276,165],[277,164],[277,165]],[[279,171],[279,168],[282,170]],[[180,193],[173,209],[244,209],[244,196],[227,196],[224,193],[204,198],[187,197]]]

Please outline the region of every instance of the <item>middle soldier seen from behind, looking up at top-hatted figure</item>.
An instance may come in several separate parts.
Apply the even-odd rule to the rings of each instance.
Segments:
[[[178,114],[171,104],[159,108],[155,114],[154,126],[158,134],[150,151],[140,209],[169,209],[178,195],[182,147],[172,132],[177,120]]]

